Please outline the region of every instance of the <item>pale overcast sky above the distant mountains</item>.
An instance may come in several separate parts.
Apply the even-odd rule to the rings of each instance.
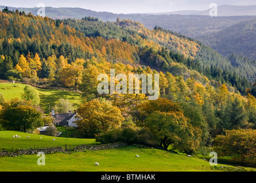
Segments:
[[[0,0],[0,5],[36,7],[44,3],[51,7],[81,7],[112,13],[160,13],[180,10],[206,10],[211,3],[219,5],[256,5],[255,0]]]

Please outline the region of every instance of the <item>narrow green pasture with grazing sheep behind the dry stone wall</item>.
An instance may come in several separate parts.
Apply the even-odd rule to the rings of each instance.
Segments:
[[[13,138],[17,134],[21,136],[21,138]],[[27,138],[29,136],[30,138]],[[42,137],[42,139],[40,139]],[[95,145],[98,144],[95,142],[95,139],[87,139],[87,138],[64,138],[64,137],[54,137],[55,141],[53,141],[53,137],[51,136],[43,136],[39,134],[29,134],[23,132],[15,132],[15,131],[0,131],[0,150],[17,150],[17,149],[29,149],[29,148],[46,148],[46,147],[55,147],[59,146],[65,148],[65,144],[67,144],[68,148],[71,146],[87,144],[87,145]]]

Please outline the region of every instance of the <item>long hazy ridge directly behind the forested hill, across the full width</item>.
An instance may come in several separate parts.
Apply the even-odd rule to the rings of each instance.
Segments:
[[[224,5],[223,5],[224,6]],[[220,6],[220,7],[223,7]],[[0,10],[6,6],[0,6]],[[219,7],[219,11],[221,10]],[[25,11],[25,13],[37,14],[38,7],[34,8],[17,8],[8,7],[10,10]],[[221,11],[220,11],[221,12]],[[255,11],[256,12],[256,11]],[[192,13],[192,12],[191,12]],[[147,28],[153,29],[160,26],[164,29],[172,30],[177,33],[187,35],[191,38],[200,37],[202,34],[218,32],[235,23],[245,21],[256,16],[236,16],[236,17],[210,17],[209,15],[166,15],[166,14],[114,14],[109,12],[97,12],[82,8],[70,7],[45,7],[45,14],[53,19],[96,17],[102,21],[114,22],[120,19],[131,19],[143,23]]]

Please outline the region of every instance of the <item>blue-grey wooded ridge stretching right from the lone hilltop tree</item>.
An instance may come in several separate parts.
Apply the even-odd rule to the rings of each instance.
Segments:
[[[125,14],[119,15],[119,17],[141,22],[149,29],[153,29],[157,25],[191,38],[197,38],[204,34],[216,33],[235,23],[255,18],[256,16],[210,17],[209,15]]]

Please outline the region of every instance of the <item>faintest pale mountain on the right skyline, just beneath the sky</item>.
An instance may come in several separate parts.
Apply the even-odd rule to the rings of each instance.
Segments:
[[[209,15],[210,9],[203,11],[172,11],[165,13],[149,13],[149,14],[179,14],[179,15]],[[229,17],[229,16],[255,16],[256,15],[256,6],[234,6],[234,5],[220,5],[218,6],[218,16],[220,17]]]

